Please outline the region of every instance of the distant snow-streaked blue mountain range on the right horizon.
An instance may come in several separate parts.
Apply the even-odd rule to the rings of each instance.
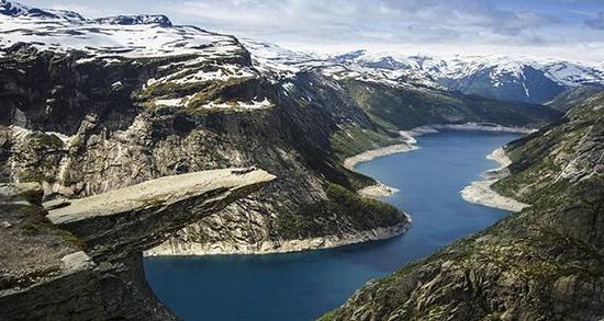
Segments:
[[[569,88],[604,87],[601,66],[556,59],[506,56],[438,58],[363,50],[335,56],[334,59],[385,72],[411,72],[416,78],[432,79],[465,94],[503,101],[545,103]]]

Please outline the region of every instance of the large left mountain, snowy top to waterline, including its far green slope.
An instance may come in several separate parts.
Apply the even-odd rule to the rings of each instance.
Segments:
[[[49,199],[224,167],[278,175],[155,254],[291,251],[400,233],[406,218],[357,198],[374,182],[345,169],[345,158],[402,144],[398,131],[414,126],[537,127],[558,117],[415,73],[170,26],[163,15],[132,19],[0,21],[1,173],[43,183]]]

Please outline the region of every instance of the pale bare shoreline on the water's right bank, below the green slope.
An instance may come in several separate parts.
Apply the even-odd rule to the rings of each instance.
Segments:
[[[491,188],[491,185],[496,183],[499,180],[510,175],[510,170],[507,170],[507,167],[512,163],[512,161],[505,154],[503,148],[500,147],[493,150],[493,152],[488,154],[486,158],[496,161],[500,167],[485,171],[482,174],[483,180],[473,181],[470,185],[463,187],[463,190],[459,192],[461,197],[469,203],[508,211],[521,211],[530,206],[529,204],[524,204],[514,198],[500,195]]]

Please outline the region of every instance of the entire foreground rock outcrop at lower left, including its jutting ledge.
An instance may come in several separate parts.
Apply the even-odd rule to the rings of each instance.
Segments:
[[[146,284],[142,252],[275,176],[166,176],[44,209],[40,184],[0,186],[2,320],[176,319]]]

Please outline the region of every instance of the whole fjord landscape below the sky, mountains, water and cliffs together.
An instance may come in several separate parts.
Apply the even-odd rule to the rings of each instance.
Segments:
[[[0,309],[600,318],[603,66],[0,0]]]

